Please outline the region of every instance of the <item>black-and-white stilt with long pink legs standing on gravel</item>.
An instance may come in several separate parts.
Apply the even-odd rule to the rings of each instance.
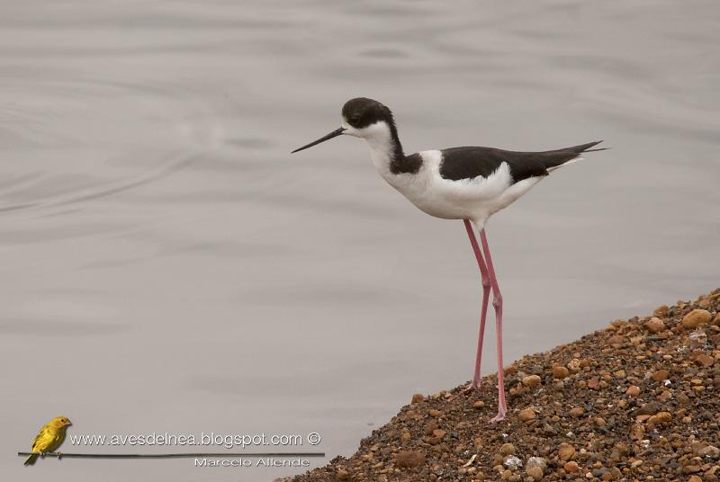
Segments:
[[[502,295],[492,266],[485,223],[554,169],[581,159],[585,152],[604,150],[591,148],[602,141],[543,152],[450,147],[406,156],[391,110],[373,99],[358,97],[343,106],[339,129],[293,153],[341,135],[364,138],[378,174],[420,210],[436,218],[463,219],[482,278],[478,350],[473,380],[466,389],[480,387],[482,337],[492,290],[498,344],[498,415],[491,422],[502,420],[508,411],[502,365]],[[482,252],[471,223],[480,233]]]

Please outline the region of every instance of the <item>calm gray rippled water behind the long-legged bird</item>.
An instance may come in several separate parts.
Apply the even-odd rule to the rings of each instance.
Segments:
[[[4,479],[270,480],[297,470],[14,453],[67,415],[73,434],[317,432],[276,449],[317,465],[470,378],[463,224],[411,206],[356,138],[289,155],[351,97],[387,103],[408,152],[613,147],[489,223],[507,362],[720,285],[716,2],[2,10]]]

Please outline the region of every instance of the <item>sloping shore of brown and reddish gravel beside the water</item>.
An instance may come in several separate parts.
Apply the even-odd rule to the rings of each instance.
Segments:
[[[720,289],[410,405],[356,453],[287,478],[340,481],[720,480]],[[457,397],[455,397],[457,395]]]

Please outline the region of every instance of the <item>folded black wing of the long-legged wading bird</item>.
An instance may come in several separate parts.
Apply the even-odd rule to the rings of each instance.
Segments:
[[[513,182],[518,183],[528,177],[547,175],[549,168],[563,165],[597,144],[599,142],[590,142],[543,152],[516,152],[494,147],[451,147],[441,151],[443,159],[440,175],[451,181],[488,177],[502,163],[507,163]]]

